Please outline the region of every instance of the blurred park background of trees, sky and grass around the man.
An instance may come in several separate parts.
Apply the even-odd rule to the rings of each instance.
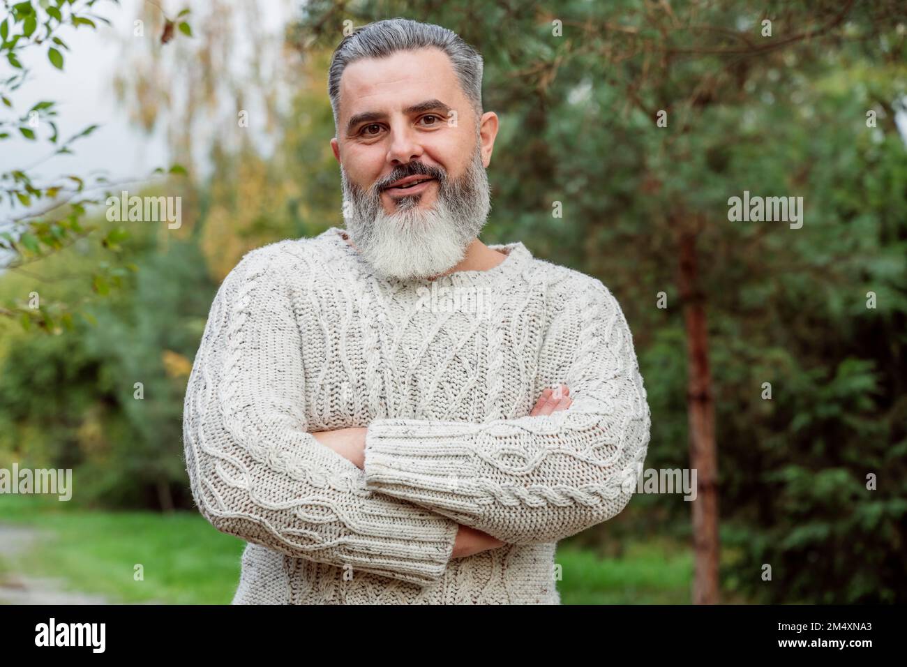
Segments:
[[[698,471],[561,542],[563,603],[907,601],[902,3],[31,0],[0,7],[0,472],[73,495],[0,493],[0,603],[229,603],[192,358],[245,252],[343,226],[327,65],[393,16],[483,54],[483,241],[610,288],[646,467]],[[122,191],[179,226],[109,221]],[[802,227],[730,220],[745,191]]]

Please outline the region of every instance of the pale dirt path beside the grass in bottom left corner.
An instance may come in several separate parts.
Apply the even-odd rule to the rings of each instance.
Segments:
[[[22,525],[0,524],[0,560],[13,571],[0,571],[0,604],[109,604],[100,595],[64,590],[63,582],[15,572],[16,564],[41,531]]]

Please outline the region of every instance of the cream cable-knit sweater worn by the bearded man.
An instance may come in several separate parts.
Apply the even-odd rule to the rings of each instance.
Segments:
[[[627,505],[649,443],[617,300],[520,242],[383,280],[341,233],[248,252],[192,368],[192,495],[249,543],[233,603],[561,603],[558,540]],[[529,417],[561,383],[571,407]],[[344,427],[365,470],[311,435]],[[458,524],[507,544],[452,559]]]

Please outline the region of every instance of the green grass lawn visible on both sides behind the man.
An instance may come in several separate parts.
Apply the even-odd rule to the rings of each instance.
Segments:
[[[199,514],[107,512],[69,508],[41,496],[0,495],[0,521],[48,536],[4,570],[63,579],[67,588],[112,602],[226,604],[239,583],[244,542],[223,535]],[[688,544],[628,542],[620,557],[559,544],[561,603],[683,604],[693,571]],[[141,564],[144,580],[135,581]]]

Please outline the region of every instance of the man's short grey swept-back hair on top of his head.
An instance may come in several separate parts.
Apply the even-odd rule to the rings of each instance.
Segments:
[[[327,94],[334,110],[335,131],[339,129],[340,121],[340,76],[346,65],[363,58],[385,58],[398,51],[432,47],[441,49],[451,59],[463,93],[473,105],[476,118],[481,117],[482,55],[452,30],[396,17],[362,25],[337,44],[327,74]]]

